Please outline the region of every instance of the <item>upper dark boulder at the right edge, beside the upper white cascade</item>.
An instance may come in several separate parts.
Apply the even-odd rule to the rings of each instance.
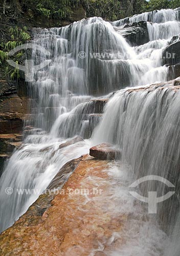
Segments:
[[[180,63],[180,41],[167,46],[163,52],[164,65],[176,65]]]

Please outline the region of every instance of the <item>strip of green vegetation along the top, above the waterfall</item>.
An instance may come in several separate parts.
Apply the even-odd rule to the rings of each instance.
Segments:
[[[31,19],[70,20],[73,12],[84,8],[87,16],[101,16],[115,20],[133,14],[162,8],[180,7],[180,0],[0,0],[3,13],[17,18],[27,15]],[[11,11],[10,11],[11,10]],[[8,13],[8,12],[11,13]],[[17,31],[18,32],[18,31]]]

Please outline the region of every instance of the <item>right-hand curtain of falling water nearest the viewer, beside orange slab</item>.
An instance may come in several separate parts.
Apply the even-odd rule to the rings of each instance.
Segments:
[[[177,246],[180,230],[180,92],[166,88],[166,84],[162,88],[155,88],[152,91],[146,88],[137,91],[126,89],[116,93],[105,107],[102,122],[95,129],[93,140],[96,143],[118,144],[122,162],[131,167],[136,179],[158,175],[175,185],[176,194],[170,201],[163,202],[163,206],[160,204],[159,216],[163,228],[172,233],[173,245],[170,244],[171,249],[168,248],[166,255],[176,256],[179,253]],[[147,191],[165,195],[167,185],[153,182],[142,186],[141,191],[146,196]]]

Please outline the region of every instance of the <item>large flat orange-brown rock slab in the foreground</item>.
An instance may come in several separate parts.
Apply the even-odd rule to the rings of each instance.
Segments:
[[[58,195],[41,195],[24,216],[1,234],[0,254],[84,256],[99,244],[108,250],[107,241],[122,229],[126,218],[110,210],[115,205],[110,200],[107,168],[108,161],[82,157]]]

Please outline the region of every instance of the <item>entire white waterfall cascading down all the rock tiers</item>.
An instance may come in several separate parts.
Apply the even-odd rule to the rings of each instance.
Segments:
[[[35,107],[26,125],[34,129],[7,162],[1,177],[1,231],[26,212],[61,166],[88,153],[89,146],[99,142],[118,144],[122,161],[131,166],[137,177],[176,177],[180,154],[179,93],[166,88],[131,92],[123,87],[167,80],[168,68],[162,66],[162,53],[172,36],[179,33],[178,17],[178,10],[154,11],[114,23],[94,17],[35,35],[33,60],[48,60],[48,65],[38,72],[32,71],[35,81],[30,89]],[[121,26],[141,20],[148,22],[150,41],[131,47],[121,35]],[[114,28],[118,26],[119,29]],[[51,53],[51,59],[37,51],[38,45]],[[112,96],[112,92],[120,89]],[[108,95],[103,98],[110,100],[93,139],[60,148],[61,143],[75,135],[91,136],[86,129],[90,120],[87,116],[97,114],[90,111],[92,102],[104,94]],[[100,119],[91,119],[91,130]],[[14,190],[11,196],[5,193],[7,187]],[[35,189],[38,193],[17,194],[17,188]],[[157,189],[159,193],[166,190],[164,186]],[[174,203],[178,208],[178,200]],[[171,215],[172,208],[169,212]],[[165,219],[168,216],[160,222],[165,223]],[[172,218],[168,221],[172,225],[164,224],[166,231],[173,228]],[[174,232],[173,229],[172,236]]]

